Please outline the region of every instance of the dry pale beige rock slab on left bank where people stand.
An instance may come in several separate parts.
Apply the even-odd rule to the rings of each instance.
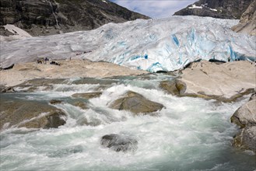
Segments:
[[[0,85],[16,86],[30,79],[78,79],[104,78],[117,75],[141,75],[148,72],[132,70],[107,62],[91,62],[72,59],[58,61],[61,65],[37,64],[37,62],[14,65],[12,69],[0,71]]]

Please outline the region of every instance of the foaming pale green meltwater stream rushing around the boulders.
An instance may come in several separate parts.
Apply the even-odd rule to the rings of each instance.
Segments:
[[[159,88],[169,75],[102,79],[96,84],[56,84],[49,91],[4,94],[9,98],[49,101],[67,123],[53,129],[11,128],[0,133],[1,170],[254,170],[255,155],[231,146],[238,127],[230,123],[244,101],[171,96]],[[99,81],[99,80],[98,80]],[[107,83],[106,83],[107,82]],[[108,105],[132,90],[165,108],[157,116],[135,116]],[[87,100],[89,110],[72,106],[76,92],[102,91]],[[80,124],[86,118],[89,125]],[[105,134],[127,134],[138,141],[134,152],[114,152],[100,145]]]

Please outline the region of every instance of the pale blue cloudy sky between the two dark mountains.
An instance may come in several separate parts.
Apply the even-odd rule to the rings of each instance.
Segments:
[[[151,18],[172,16],[174,12],[187,7],[198,0],[110,0],[134,12]]]

